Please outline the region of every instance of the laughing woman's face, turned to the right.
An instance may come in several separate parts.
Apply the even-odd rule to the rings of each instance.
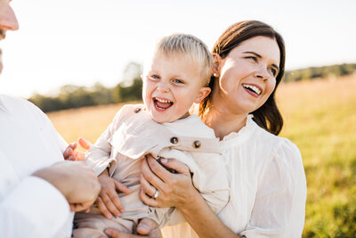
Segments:
[[[252,37],[232,49],[219,64],[214,107],[239,115],[261,107],[276,86],[279,58],[279,46],[270,37]]]

